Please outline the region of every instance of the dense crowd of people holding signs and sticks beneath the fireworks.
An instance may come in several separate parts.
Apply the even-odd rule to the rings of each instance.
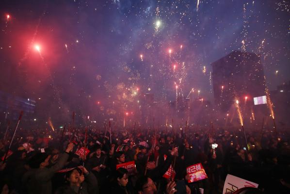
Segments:
[[[13,131],[4,133],[1,194],[220,194],[228,174],[257,183],[256,193],[290,193],[287,130],[18,129],[9,150]],[[190,182],[196,163],[207,178]]]

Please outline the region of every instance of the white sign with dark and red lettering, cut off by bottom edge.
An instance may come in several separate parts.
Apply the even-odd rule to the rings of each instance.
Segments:
[[[258,188],[258,184],[228,174],[226,176],[226,181],[225,181],[225,185],[224,185],[223,194],[233,194],[238,189],[241,189],[241,188],[244,188],[244,187],[255,187],[255,188]]]

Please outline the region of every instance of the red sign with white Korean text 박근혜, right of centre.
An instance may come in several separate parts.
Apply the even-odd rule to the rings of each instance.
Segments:
[[[193,164],[186,168],[187,175],[190,176],[189,183],[208,178],[201,163]]]

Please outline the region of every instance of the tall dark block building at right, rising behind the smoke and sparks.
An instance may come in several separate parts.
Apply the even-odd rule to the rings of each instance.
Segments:
[[[213,62],[214,101],[222,112],[229,112],[238,99],[241,105],[253,106],[253,97],[265,95],[265,79],[260,56],[233,51]]]

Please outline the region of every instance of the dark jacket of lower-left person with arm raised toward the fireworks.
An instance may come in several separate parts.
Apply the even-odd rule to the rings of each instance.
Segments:
[[[58,162],[50,168],[37,168],[31,169],[26,172],[22,177],[23,187],[28,194],[51,194],[51,178],[54,173],[64,167],[68,159],[68,154],[63,153],[60,155]]]

